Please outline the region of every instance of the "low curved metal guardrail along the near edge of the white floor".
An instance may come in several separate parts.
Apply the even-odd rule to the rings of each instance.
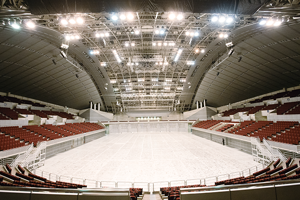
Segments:
[[[143,191],[160,191],[160,187],[171,187],[171,186],[185,186],[192,184],[206,184],[214,185],[214,182],[219,180],[225,180],[240,176],[249,176],[252,173],[259,171],[264,168],[263,164],[258,164],[250,168],[244,169],[242,171],[236,171],[228,174],[221,174],[218,176],[210,176],[206,178],[197,178],[197,179],[187,179],[187,180],[171,180],[171,181],[159,181],[159,182],[126,182],[126,181],[98,181],[91,179],[84,179],[78,177],[69,177],[64,175],[57,175],[54,173],[49,173],[47,171],[42,171],[37,168],[32,170],[32,173],[47,178],[51,181],[65,181],[77,184],[85,184],[88,187],[113,187],[113,188],[124,188],[124,187],[139,187]]]

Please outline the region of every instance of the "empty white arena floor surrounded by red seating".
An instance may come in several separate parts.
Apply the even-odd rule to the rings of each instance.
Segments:
[[[47,158],[57,175],[156,182],[221,175],[257,165],[252,155],[182,132],[111,133]]]

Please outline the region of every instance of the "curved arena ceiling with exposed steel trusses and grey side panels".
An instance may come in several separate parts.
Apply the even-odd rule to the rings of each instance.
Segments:
[[[251,15],[250,8],[217,14],[232,22],[212,21],[211,12],[172,12],[170,19],[171,12],[164,10],[136,11],[124,20],[113,20],[111,12],[61,14],[57,8],[60,14],[52,14],[58,1],[46,13],[50,5],[36,3],[32,10],[42,14],[34,15],[26,10],[31,0],[21,1],[23,10],[8,9],[5,2],[0,14],[2,92],[77,109],[99,102],[101,110],[114,113],[121,108],[187,111],[203,99],[221,106],[300,83],[300,23],[292,18],[299,12],[283,1],[258,6]],[[258,2],[264,1],[252,8]],[[61,24],[64,17],[84,22]],[[282,23],[259,25],[261,17]],[[33,29],[25,25],[29,20]],[[21,21],[19,29],[11,27],[14,21]]]

